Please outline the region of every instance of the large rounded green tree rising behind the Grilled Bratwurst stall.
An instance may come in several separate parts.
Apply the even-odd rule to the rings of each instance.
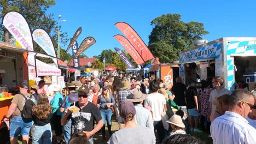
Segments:
[[[162,63],[178,60],[178,53],[194,47],[193,41],[209,32],[200,22],[183,22],[179,14],[156,17],[149,35],[148,48]]]

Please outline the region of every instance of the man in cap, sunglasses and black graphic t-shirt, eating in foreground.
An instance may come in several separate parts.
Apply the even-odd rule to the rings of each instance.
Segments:
[[[72,120],[71,135],[75,133],[84,133],[90,143],[93,143],[93,135],[101,129],[103,121],[100,110],[97,106],[88,101],[90,90],[86,86],[82,86],[78,90],[78,102],[75,106],[78,107],[79,112],[72,113],[70,107],[67,107],[64,116],[61,118],[61,125],[65,125],[69,119]],[[73,106],[74,104],[71,104]],[[94,119],[97,124],[93,127]]]

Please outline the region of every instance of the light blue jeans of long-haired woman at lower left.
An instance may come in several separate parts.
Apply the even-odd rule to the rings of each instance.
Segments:
[[[51,138],[53,133],[51,133],[51,124],[48,123],[44,126],[33,125],[32,129],[32,143],[42,143],[48,144],[51,143]]]

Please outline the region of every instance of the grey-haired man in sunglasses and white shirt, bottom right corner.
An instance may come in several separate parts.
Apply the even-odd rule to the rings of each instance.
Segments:
[[[256,130],[246,120],[253,107],[254,98],[249,91],[238,89],[232,93],[228,111],[211,124],[213,143],[256,143]]]

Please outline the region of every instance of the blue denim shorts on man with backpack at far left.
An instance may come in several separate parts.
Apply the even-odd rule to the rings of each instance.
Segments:
[[[30,135],[32,121],[24,122],[21,116],[11,118],[10,120],[10,137],[21,135]]]

